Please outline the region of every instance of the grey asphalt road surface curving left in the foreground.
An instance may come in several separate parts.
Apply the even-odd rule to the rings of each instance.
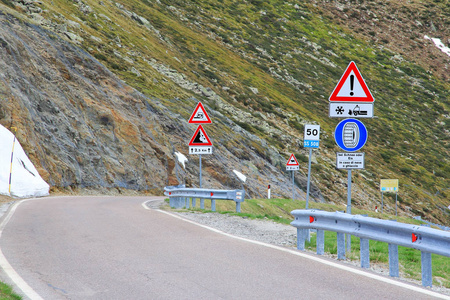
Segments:
[[[151,199],[21,203],[1,226],[4,273],[34,299],[433,298],[145,209]]]

